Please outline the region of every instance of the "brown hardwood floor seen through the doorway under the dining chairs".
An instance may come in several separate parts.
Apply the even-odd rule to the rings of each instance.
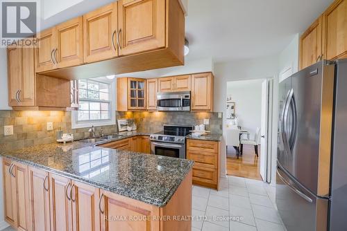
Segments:
[[[258,154],[261,155],[260,146],[258,146]],[[262,180],[260,176],[260,158],[255,155],[253,145],[244,145],[244,154],[239,156],[239,159],[236,157],[234,147],[228,147],[226,174],[228,176]]]

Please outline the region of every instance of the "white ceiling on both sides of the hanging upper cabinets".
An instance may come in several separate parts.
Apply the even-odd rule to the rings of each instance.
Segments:
[[[114,0],[45,0],[42,28],[83,15]],[[332,0],[183,0],[188,1],[188,60],[214,62],[279,53]],[[65,8],[65,10],[64,10]]]

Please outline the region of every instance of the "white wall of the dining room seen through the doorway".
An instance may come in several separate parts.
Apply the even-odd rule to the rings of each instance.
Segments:
[[[262,117],[263,80],[241,80],[227,83],[226,94],[235,102],[235,115],[239,126],[251,132],[253,139]]]

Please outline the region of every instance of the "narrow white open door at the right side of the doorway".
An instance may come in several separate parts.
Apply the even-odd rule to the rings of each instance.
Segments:
[[[260,128],[260,176],[267,181],[267,134],[269,115],[269,82],[262,82],[262,122]]]

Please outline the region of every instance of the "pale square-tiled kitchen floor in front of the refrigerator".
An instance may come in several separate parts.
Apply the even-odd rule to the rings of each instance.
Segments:
[[[192,197],[192,231],[285,231],[275,206],[275,187],[267,183],[230,176],[221,178],[218,192],[193,186]],[[230,216],[239,221],[221,220]]]

